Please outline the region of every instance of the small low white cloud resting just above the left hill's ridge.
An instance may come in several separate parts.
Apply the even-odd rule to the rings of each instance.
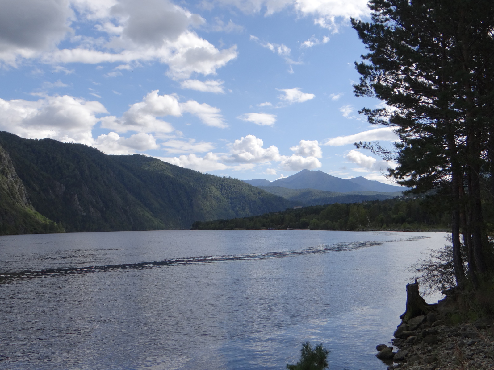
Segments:
[[[134,154],[136,151],[146,151],[158,149],[153,135],[138,133],[128,138],[121,137],[116,132],[110,132],[108,135],[100,135],[93,145],[106,154]]]

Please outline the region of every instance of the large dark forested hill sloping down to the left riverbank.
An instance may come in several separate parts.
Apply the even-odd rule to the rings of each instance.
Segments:
[[[22,181],[30,209],[67,232],[190,228],[196,220],[246,217],[291,206],[240,180],[144,155],[106,155],[81,144],[22,139],[7,132],[0,132],[0,146]]]

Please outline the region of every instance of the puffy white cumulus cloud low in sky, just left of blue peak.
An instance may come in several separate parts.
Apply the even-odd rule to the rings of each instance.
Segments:
[[[272,145],[269,148],[262,148],[263,145],[261,139],[247,135],[230,145],[230,156],[224,159],[238,163],[265,163],[282,159],[277,147]]]

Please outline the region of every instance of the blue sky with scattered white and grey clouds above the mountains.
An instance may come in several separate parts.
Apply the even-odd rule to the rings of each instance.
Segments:
[[[0,0],[0,130],[239,179],[387,183],[356,141],[365,0]],[[389,183],[389,182],[388,182]]]

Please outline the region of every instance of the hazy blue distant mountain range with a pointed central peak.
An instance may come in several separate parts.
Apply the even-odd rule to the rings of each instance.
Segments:
[[[340,179],[323,171],[302,170],[283,179],[269,181],[266,179],[243,180],[254,186],[281,186],[289,189],[316,189],[349,193],[352,191],[397,192],[407,190],[404,186],[383,184],[379,181],[367,180],[359,176],[353,179]],[[266,189],[267,190],[267,189]]]

